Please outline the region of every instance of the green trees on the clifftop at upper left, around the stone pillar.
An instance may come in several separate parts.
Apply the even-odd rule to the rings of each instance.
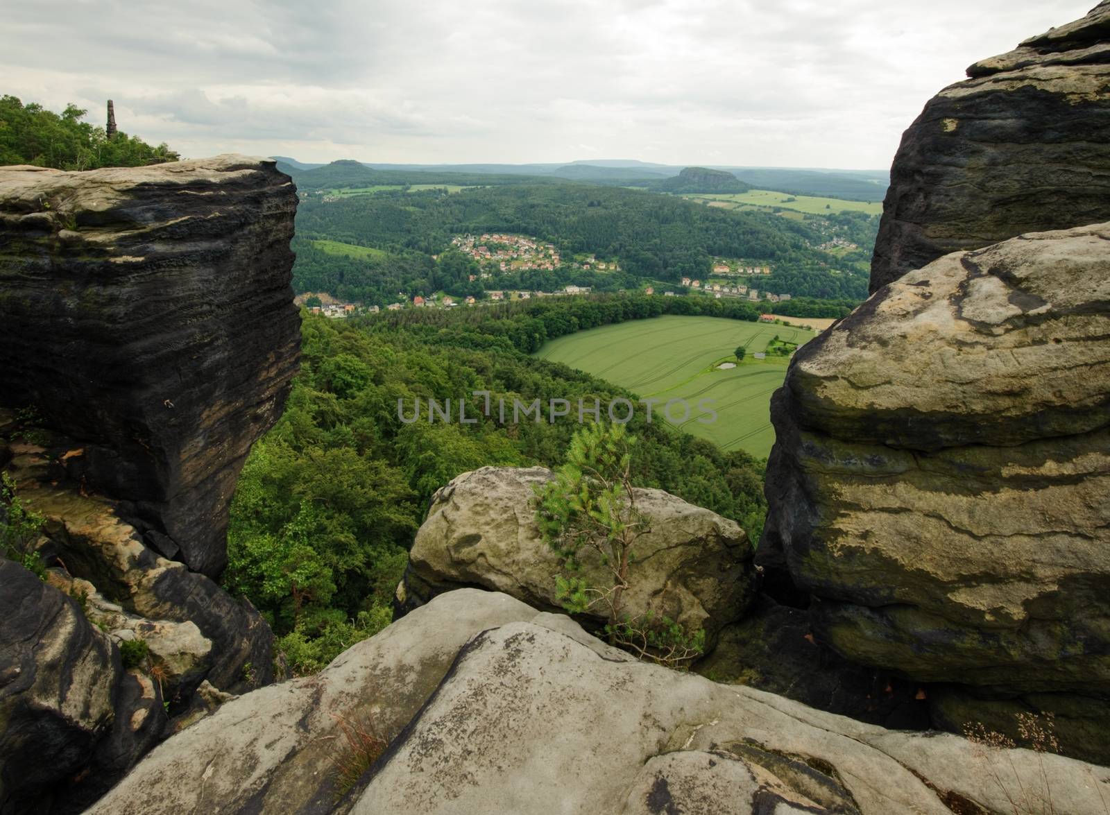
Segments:
[[[82,121],[88,111],[68,104],[60,114],[40,104],[0,97],[0,165],[34,164],[58,170],[100,167],[141,167],[176,161],[164,143],[151,147],[141,139]]]

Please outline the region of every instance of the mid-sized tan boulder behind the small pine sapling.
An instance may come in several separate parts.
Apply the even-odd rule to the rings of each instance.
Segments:
[[[412,607],[444,591],[480,586],[545,611],[561,611],[561,564],[533,520],[533,487],[552,479],[543,467],[482,467],[463,473],[432,497],[416,533],[398,594]],[[736,523],[662,490],[636,490],[650,521],[637,541],[627,611],[666,615],[712,641],[754,598],[751,546]],[[603,566],[584,560],[583,576],[607,585]],[[606,616],[594,617],[602,623]]]

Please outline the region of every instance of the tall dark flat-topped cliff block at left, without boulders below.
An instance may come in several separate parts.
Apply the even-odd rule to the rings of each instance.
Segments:
[[[274,164],[0,168],[0,404],[82,442],[68,474],[212,576],[299,360],[296,191]]]

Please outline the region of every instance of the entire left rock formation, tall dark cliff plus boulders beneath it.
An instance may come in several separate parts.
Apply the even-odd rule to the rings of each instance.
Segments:
[[[265,621],[208,575],[297,366],[295,200],[244,157],[0,168],[0,467],[44,521],[0,549],[6,815],[83,809],[273,681]]]

